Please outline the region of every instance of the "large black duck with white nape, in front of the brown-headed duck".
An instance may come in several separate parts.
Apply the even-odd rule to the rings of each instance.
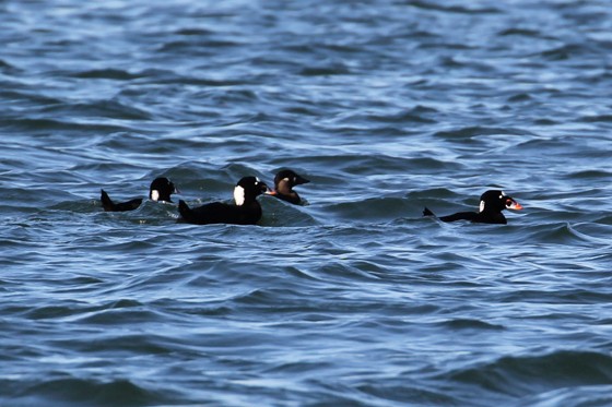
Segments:
[[[195,225],[255,225],[262,215],[257,196],[267,191],[268,185],[259,178],[243,177],[234,187],[234,204],[212,202],[191,208],[185,201],[178,201],[180,220]]]

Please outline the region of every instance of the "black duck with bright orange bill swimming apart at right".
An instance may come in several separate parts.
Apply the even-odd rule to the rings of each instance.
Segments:
[[[447,216],[436,216],[429,208],[423,210],[423,216],[436,216],[442,222],[470,220],[479,224],[506,225],[508,220],[502,213],[504,210],[522,210],[522,205],[501,190],[489,190],[480,196],[478,212],[458,212]]]

